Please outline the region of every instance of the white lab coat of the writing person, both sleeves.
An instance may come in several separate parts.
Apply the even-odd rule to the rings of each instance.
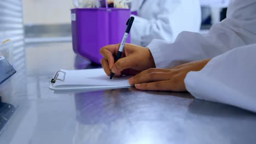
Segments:
[[[156,67],[170,68],[213,58],[201,71],[190,72],[185,86],[195,98],[256,112],[256,0],[231,0],[227,18],[208,35],[182,32],[173,44],[148,45]]]

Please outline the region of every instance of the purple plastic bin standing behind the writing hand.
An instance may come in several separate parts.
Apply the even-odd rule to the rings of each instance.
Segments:
[[[100,49],[123,39],[130,9],[72,9],[73,50],[90,61],[101,64]],[[130,37],[127,43],[130,43]]]

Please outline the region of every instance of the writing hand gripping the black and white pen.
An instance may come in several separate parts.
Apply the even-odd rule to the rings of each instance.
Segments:
[[[121,58],[114,63],[120,44],[108,45],[101,49],[102,67],[105,73],[110,76],[111,71],[115,76],[136,75],[139,72],[155,68],[154,58],[146,47],[126,44]]]

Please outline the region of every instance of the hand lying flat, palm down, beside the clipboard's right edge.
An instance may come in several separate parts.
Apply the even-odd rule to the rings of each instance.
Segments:
[[[200,71],[211,59],[185,63],[171,69],[148,69],[129,79],[130,85],[148,91],[187,91],[184,79],[189,71]]]

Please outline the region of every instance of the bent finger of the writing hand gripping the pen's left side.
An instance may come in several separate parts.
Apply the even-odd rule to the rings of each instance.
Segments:
[[[107,60],[109,69],[112,69],[114,65],[113,55],[118,51],[118,45],[107,45],[101,48],[101,55]]]

